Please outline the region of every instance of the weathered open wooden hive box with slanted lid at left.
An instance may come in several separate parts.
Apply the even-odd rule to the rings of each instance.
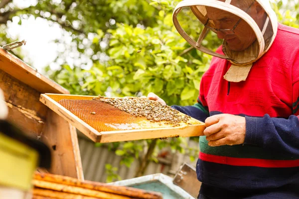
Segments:
[[[69,91],[1,47],[0,89],[9,109],[7,120],[51,148],[49,172],[83,180],[76,128],[39,101],[40,94]]]

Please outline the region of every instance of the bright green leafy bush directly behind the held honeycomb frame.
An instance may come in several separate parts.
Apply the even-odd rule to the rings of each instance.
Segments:
[[[108,62],[95,62],[89,71],[74,68],[73,73],[63,66],[51,78],[72,94],[105,95],[109,88],[110,95],[117,97],[154,92],[168,104],[194,103],[210,56],[195,49],[182,53],[189,45],[167,17],[171,9],[165,10],[156,16],[155,27],[117,23],[116,29],[107,30]]]

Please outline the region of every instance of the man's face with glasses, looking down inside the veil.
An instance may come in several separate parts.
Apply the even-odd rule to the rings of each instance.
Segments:
[[[233,29],[240,19],[239,16],[221,9],[213,7],[206,7],[206,9],[209,20],[214,22],[217,29]],[[234,32],[234,34],[225,34],[217,31],[218,38],[225,39],[231,50],[245,50],[256,40],[253,29],[244,20],[240,21]]]

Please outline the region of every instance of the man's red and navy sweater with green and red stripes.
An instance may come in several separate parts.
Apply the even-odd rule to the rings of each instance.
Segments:
[[[269,198],[297,196],[299,29],[279,24],[273,45],[254,63],[246,81],[224,80],[230,66],[229,61],[213,57],[201,79],[198,104],[174,106],[202,121],[208,116],[202,106],[209,115],[229,113],[246,118],[244,145],[210,147],[205,136],[200,137],[198,180],[207,187],[228,192],[285,188],[290,195]],[[294,189],[286,188],[293,185]],[[202,193],[212,197],[205,190],[208,189]],[[223,192],[219,194],[223,197]]]

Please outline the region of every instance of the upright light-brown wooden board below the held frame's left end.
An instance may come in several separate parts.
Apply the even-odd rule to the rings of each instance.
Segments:
[[[50,173],[84,180],[76,129],[50,109],[41,140],[51,148]]]

